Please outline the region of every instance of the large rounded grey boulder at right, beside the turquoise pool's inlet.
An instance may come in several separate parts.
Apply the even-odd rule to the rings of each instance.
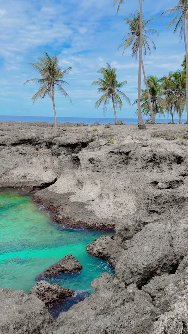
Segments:
[[[171,244],[168,226],[148,224],[133,236],[129,248],[122,252],[116,263],[116,275],[126,285],[142,286],[153,276],[169,273],[177,264]]]

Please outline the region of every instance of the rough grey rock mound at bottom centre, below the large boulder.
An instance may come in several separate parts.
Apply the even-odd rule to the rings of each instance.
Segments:
[[[150,333],[158,310],[149,294],[139,291],[135,284],[126,289],[106,273],[93,282],[93,287],[95,294],[60,314],[60,328],[54,334]]]

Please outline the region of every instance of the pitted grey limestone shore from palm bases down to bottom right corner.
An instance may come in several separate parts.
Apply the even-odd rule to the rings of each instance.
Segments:
[[[57,223],[116,230],[87,246],[115,276],[95,280],[96,292],[60,314],[53,334],[188,334],[187,125],[3,126],[2,187],[51,183],[33,199]],[[30,149],[47,150],[46,171]]]

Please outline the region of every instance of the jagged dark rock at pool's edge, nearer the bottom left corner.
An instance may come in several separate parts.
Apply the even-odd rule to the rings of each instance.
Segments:
[[[48,307],[54,304],[64,301],[69,297],[73,297],[75,291],[70,289],[64,289],[57,284],[50,284],[46,281],[40,281],[30,291],[29,294],[37,296]]]

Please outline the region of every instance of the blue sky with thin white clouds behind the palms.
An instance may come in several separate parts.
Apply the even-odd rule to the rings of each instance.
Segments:
[[[152,37],[157,50],[144,58],[147,75],[160,77],[180,68],[184,43],[180,43],[173,29],[166,30],[171,17],[159,17],[177,3],[178,0],[143,1],[144,18],[155,17],[151,27],[159,32],[159,37]],[[44,50],[58,56],[62,69],[72,66],[65,79],[70,84],[66,91],[73,105],[56,93],[57,116],[103,117],[103,107],[95,109],[99,95],[91,83],[106,62],[118,69],[119,81],[127,80],[123,91],[133,103],[137,98],[138,63],[131,57],[131,49],[122,56],[118,45],[128,32],[123,19],[136,9],[138,0],[125,1],[118,16],[113,0],[1,0],[0,115],[53,116],[49,98],[32,104],[37,85],[23,86],[25,80],[37,76],[28,62],[36,61]],[[118,117],[135,118],[135,110],[124,102]],[[110,104],[106,116],[113,117]]]

